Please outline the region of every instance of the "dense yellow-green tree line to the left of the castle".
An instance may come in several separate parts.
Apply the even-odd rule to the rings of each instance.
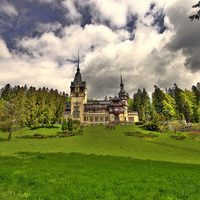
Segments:
[[[15,110],[15,118],[18,116],[21,126],[53,126],[61,121],[67,98],[68,94],[59,93],[57,89],[7,84],[1,89],[0,115],[3,117],[2,112],[5,115],[9,109]]]

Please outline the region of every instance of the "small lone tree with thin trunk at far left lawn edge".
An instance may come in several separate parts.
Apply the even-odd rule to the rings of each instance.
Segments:
[[[15,101],[4,101],[0,116],[0,129],[9,132],[8,141],[11,140],[12,132],[20,128],[20,114],[17,111]]]

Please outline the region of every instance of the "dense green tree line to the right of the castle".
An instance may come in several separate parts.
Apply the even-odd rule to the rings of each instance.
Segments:
[[[199,122],[200,83],[193,85],[191,90],[182,90],[176,83],[165,91],[155,85],[152,99],[145,88],[138,89],[128,103],[129,109],[137,111],[142,122],[151,121],[156,115],[165,120]]]

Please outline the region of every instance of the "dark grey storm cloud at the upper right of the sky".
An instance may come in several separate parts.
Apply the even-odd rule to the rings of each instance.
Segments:
[[[200,69],[199,23],[191,23],[188,20],[186,8],[179,9],[177,4],[171,8],[169,13],[170,21],[174,25],[176,34],[166,47],[174,53],[181,50],[186,57],[184,65],[191,72],[197,72]]]

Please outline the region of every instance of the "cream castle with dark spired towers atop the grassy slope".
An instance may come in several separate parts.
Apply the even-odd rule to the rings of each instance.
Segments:
[[[95,125],[106,123],[134,123],[138,121],[138,113],[128,110],[128,93],[124,90],[121,76],[118,97],[109,100],[87,102],[86,82],[82,81],[79,62],[74,81],[70,86],[71,102],[65,106],[64,118],[79,120],[82,124]]]

